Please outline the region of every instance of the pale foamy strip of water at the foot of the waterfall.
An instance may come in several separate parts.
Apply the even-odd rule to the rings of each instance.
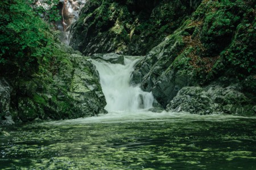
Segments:
[[[51,125],[75,125],[75,124],[112,124],[112,123],[129,123],[129,122],[192,122],[192,121],[208,121],[208,122],[225,122],[236,120],[253,119],[256,117],[234,116],[225,114],[209,114],[199,115],[184,112],[110,112],[108,114],[100,114],[94,117],[76,118],[73,120],[43,122],[42,124]]]

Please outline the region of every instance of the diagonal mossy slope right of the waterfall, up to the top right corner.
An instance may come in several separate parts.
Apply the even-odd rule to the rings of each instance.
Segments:
[[[180,96],[183,97],[182,100],[177,100],[176,97],[175,101],[172,101],[177,92],[185,86],[216,86],[217,91],[229,91],[230,88],[235,90],[230,93],[233,94],[233,99],[243,92],[247,96],[243,97],[246,102],[229,100],[230,95],[226,95],[229,92],[224,92],[222,98],[227,100],[221,101],[219,109],[214,104],[215,108],[209,113],[254,113],[254,6],[254,2],[245,1],[203,1],[189,19],[138,63],[134,77],[141,77],[142,88],[152,91],[163,107],[172,102],[170,105],[173,109],[191,112],[189,107],[181,109],[180,104],[196,105],[196,101],[206,100],[201,98],[204,92],[198,92],[199,97],[188,92],[186,95],[190,98],[187,101],[183,100],[183,96]],[[140,81],[134,79],[134,82]],[[210,103],[214,103],[215,99],[211,97]],[[178,101],[179,104],[175,103]],[[209,111],[208,107],[203,108],[202,110]],[[225,108],[233,110],[227,111]]]

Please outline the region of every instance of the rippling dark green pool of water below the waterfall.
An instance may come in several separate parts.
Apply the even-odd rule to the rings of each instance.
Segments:
[[[256,119],[174,113],[16,125],[0,169],[256,169]]]

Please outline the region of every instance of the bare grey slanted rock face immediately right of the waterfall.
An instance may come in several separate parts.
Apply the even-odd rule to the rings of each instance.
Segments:
[[[179,33],[167,37],[139,61],[133,71],[131,83],[141,83],[142,90],[152,91],[163,108],[182,87],[193,84],[191,71],[186,73],[175,69],[175,59],[179,58],[177,53],[183,48]]]

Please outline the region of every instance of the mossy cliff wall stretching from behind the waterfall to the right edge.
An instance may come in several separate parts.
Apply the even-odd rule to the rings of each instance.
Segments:
[[[242,0],[88,1],[72,25],[71,45],[84,54],[146,54],[131,83],[152,91],[163,108],[254,114],[255,5]]]

